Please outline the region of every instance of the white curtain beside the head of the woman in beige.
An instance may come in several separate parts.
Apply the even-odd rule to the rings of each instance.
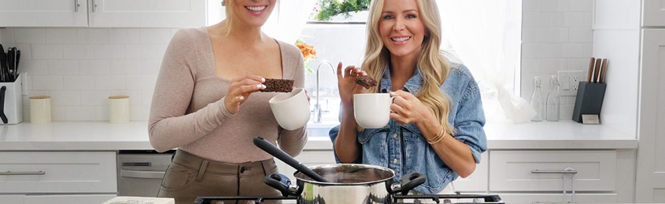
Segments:
[[[263,32],[269,36],[294,44],[303,31],[315,0],[279,0],[268,21],[263,25]]]

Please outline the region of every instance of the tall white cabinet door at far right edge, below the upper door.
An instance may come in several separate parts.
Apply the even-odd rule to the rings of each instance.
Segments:
[[[665,203],[665,28],[642,30],[640,67],[636,202]]]

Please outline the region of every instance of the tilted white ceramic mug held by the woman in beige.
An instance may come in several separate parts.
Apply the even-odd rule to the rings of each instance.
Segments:
[[[304,127],[309,121],[309,101],[305,89],[295,88],[291,93],[279,93],[268,103],[277,123],[286,130]]]

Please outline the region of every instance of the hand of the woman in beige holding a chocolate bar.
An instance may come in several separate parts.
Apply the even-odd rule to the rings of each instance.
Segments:
[[[249,95],[261,89],[265,89],[265,78],[255,75],[237,77],[231,80],[229,91],[224,98],[224,105],[231,114],[238,113],[240,105],[247,101]]]

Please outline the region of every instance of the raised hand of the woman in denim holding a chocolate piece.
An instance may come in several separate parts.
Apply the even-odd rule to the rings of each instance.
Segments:
[[[342,105],[352,105],[353,94],[358,93],[363,88],[362,85],[356,83],[356,77],[358,76],[367,76],[367,73],[360,70],[360,68],[356,68],[356,66],[347,66],[342,76],[342,62],[337,64],[337,85]]]

